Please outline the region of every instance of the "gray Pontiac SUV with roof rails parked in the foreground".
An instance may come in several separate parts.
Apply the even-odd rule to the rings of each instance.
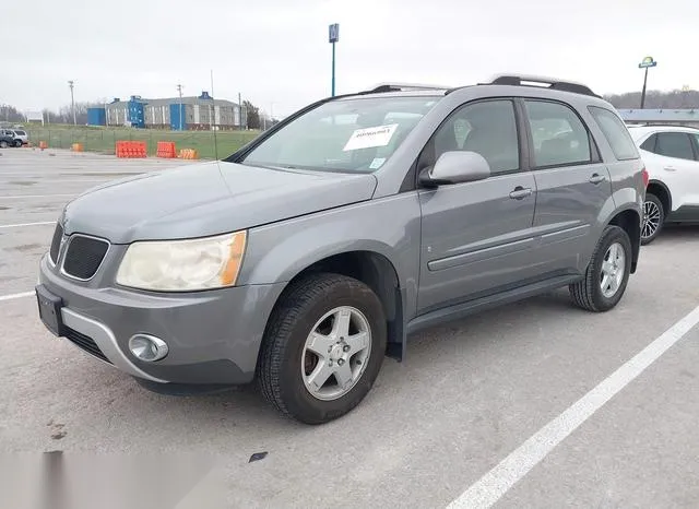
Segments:
[[[502,75],[315,103],[228,158],[63,210],[36,288],[59,336],[177,393],[258,380],[336,418],[386,355],[448,320],[568,285],[606,311],[637,267],[647,175],[587,86]]]

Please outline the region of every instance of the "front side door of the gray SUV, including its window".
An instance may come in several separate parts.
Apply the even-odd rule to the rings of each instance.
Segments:
[[[435,133],[418,167],[454,150],[483,155],[491,176],[419,191],[418,312],[496,293],[535,275],[528,252],[536,186],[532,174],[521,170],[513,102],[461,106]]]

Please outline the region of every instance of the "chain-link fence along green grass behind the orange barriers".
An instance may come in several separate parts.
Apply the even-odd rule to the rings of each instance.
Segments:
[[[144,141],[150,156],[155,156],[158,141],[175,142],[177,151],[193,149],[199,157],[224,158],[254,139],[259,131],[166,131],[156,129],[63,128],[43,127],[27,129],[29,141],[38,146],[44,141],[50,149],[70,149],[82,143],[86,152],[114,154],[117,141]]]

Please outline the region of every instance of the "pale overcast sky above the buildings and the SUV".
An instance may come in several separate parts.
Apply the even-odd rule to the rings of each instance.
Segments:
[[[699,88],[699,0],[32,0],[4,2],[0,103],[58,108],[210,91],[287,115],[383,81],[460,85],[497,72],[597,92]],[[11,51],[10,51],[11,50]]]

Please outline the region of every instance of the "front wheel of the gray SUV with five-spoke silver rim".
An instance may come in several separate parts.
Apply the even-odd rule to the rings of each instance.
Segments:
[[[288,417],[333,421],[371,389],[386,341],[383,307],[371,288],[344,275],[309,275],[272,312],[258,363],[260,388]]]

